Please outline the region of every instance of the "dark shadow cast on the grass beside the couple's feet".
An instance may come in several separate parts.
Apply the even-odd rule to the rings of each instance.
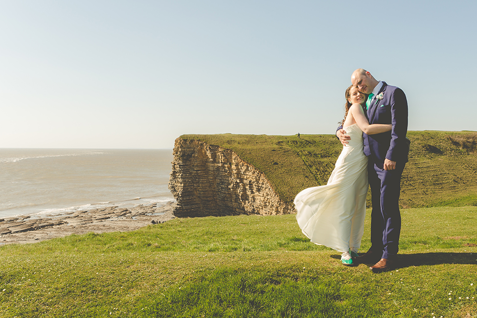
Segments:
[[[363,255],[363,253],[361,253]],[[341,259],[340,255],[331,255],[331,258]],[[442,265],[442,264],[462,264],[477,265],[477,253],[415,253],[415,254],[398,254],[397,262],[393,269],[426,266],[426,265]],[[373,265],[373,264],[365,264]]]

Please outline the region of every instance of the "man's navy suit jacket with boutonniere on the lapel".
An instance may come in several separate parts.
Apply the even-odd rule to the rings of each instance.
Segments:
[[[377,96],[383,94],[383,99]],[[381,169],[384,159],[396,161],[397,164],[408,162],[408,101],[404,91],[383,82],[383,87],[371,100],[366,117],[370,124],[391,124],[390,132],[366,135],[364,137],[364,154],[371,156]]]

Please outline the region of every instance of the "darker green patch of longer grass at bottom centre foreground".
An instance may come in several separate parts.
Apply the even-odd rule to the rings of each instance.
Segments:
[[[378,314],[377,300],[354,301],[356,291],[341,280],[316,273],[289,276],[289,271],[216,270],[165,295],[156,295],[143,311],[144,317],[351,318]],[[370,289],[365,293],[375,294]]]

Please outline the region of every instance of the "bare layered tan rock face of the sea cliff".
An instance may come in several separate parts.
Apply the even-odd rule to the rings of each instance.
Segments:
[[[262,172],[229,149],[197,140],[176,139],[169,189],[178,217],[295,212]]]

